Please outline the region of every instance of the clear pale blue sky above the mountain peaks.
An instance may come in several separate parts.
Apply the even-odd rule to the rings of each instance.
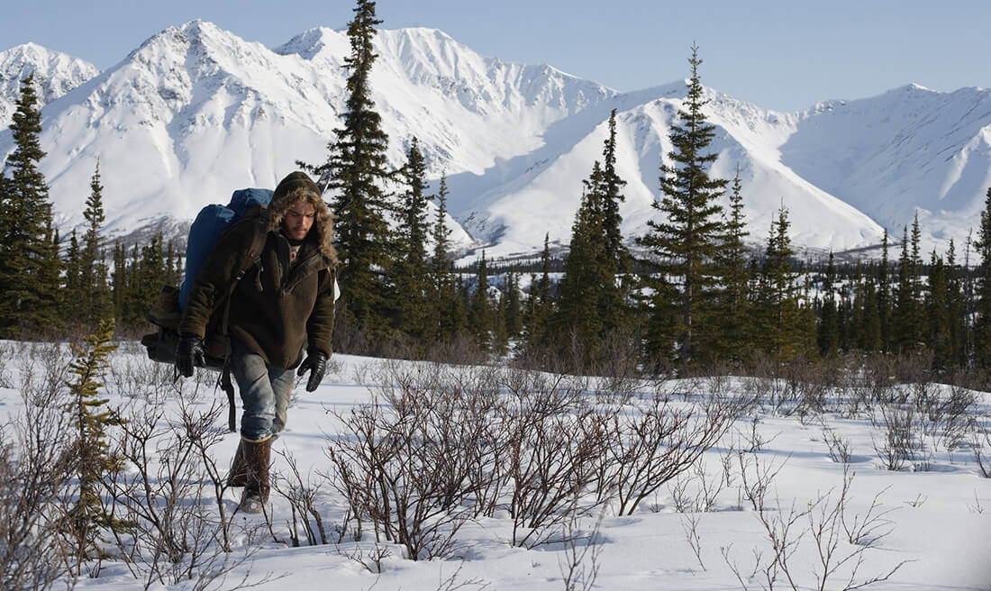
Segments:
[[[307,29],[342,29],[352,0],[33,0],[5,6],[0,50],[34,42],[100,68],[156,33],[203,19],[275,47]],[[689,75],[794,111],[909,83],[991,87],[991,2],[984,0],[381,0],[385,29],[440,29],[487,57],[549,63],[616,90]]]

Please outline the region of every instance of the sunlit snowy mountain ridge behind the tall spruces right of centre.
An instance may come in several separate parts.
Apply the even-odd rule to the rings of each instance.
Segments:
[[[660,165],[672,165],[667,130],[677,123],[686,86],[676,82],[638,96],[617,96],[589,112],[552,126],[548,148],[520,159],[532,163],[517,171],[513,181],[483,193],[461,217],[473,216],[472,227],[496,243],[494,256],[533,250],[534,237],[548,233],[551,242],[567,245],[574,212],[582,194],[582,179],[591,163],[602,159],[608,133],[608,110],[616,108],[616,168],[626,179],[620,206],[624,234],[646,232],[646,220],[660,184]],[[646,100],[652,96],[652,100]],[[719,155],[711,173],[731,178],[737,167],[744,187],[749,241],[762,243],[777,211],[789,209],[796,244],[846,249],[878,242],[883,229],[868,216],[826,193],[783,166],[776,145],[794,132],[794,116],[766,111],[724,94],[706,90],[707,118],[716,126],[710,150]],[[460,177],[451,178],[453,192]],[[723,199],[728,204],[728,199]],[[452,209],[453,210],[453,209]]]

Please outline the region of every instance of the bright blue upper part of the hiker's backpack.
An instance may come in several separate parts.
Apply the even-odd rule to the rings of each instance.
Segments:
[[[186,239],[185,274],[179,287],[179,309],[185,309],[199,268],[217,245],[220,236],[243,218],[249,208],[268,207],[272,195],[272,189],[268,188],[242,188],[234,191],[227,205],[215,203],[199,210]]]

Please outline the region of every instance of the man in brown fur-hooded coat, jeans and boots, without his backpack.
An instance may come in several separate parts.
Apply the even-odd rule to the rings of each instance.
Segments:
[[[304,173],[283,178],[261,215],[267,220],[261,256],[253,260],[249,251],[262,230],[245,220],[224,233],[203,263],[182,313],[175,353],[179,372],[191,376],[203,364],[211,314],[227,314],[227,363],[244,408],[228,482],[245,487],[239,511],[248,513],[261,512],[269,499],[270,449],[285,426],[292,370],[310,372],[307,392],[323,379],[337,265],[333,216]]]

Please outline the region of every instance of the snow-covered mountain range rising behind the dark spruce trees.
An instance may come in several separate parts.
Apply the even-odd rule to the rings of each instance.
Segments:
[[[449,209],[470,233],[457,228],[463,248],[528,254],[545,233],[566,245],[612,109],[628,182],[624,230],[644,232],[683,80],[619,93],[549,65],[483,58],[436,30],[381,31],[376,43],[372,85],[389,159],[401,164],[418,139],[429,176],[448,176]],[[82,221],[97,158],[108,229],[126,235],[187,222],[234,188],[273,186],[297,160],[322,162],[349,51],[343,31],[313,29],[270,50],[193,21],[103,72],[30,45],[0,54],[0,66],[46,72],[43,170],[63,235]],[[17,96],[16,75],[4,79],[13,81],[0,88],[0,107]],[[907,86],[796,113],[707,96],[714,173],[738,168],[754,242],[782,205],[795,242],[814,248],[877,244],[882,225],[900,237],[916,208],[929,244],[962,244],[976,223],[991,183],[991,91]],[[11,149],[10,133],[0,134],[0,155]]]

